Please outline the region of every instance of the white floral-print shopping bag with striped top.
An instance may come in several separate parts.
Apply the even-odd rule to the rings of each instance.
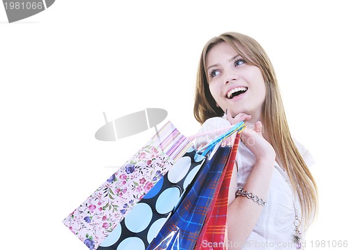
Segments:
[[[168,122],[69,214],[64,225],[89,249],[97,249],[191,145],[191,140]]]

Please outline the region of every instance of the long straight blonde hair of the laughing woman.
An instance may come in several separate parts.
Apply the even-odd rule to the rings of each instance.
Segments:
[[[275,149],[276,161],[285,168],[293,189],[297,190],[302,206],[302,218],[305,225],[309,226],[311,218],[318,212],[318,188],[292,140],[274,67],[257,41],[244,34],[228,32],[207,42],[198,66],[194,103],[195,119],[202,124],[211,117],[221,117],[224,114],[223,110],[216,106],[216,101],[209,91],[205,70],[207,53],[211,47],[222,42],[231,45],[240,56],[246,59],[247,63],[257,66],[262,71],[267,93],[262,107],[262,118],[267,123],[265,129],[270,136],[269,142]],[[243,51],[239,50],[236,44],[241,45]]]

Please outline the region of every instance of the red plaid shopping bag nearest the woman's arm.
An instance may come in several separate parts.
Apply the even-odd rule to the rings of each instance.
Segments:
[[[223,170],[219,191],[215,193],[198,242],[195,245],[195,250],[223,250],[229,246],[229,242],[225,238],[227,232],[228,196],[239,140],[240,133],[237,133],[230,152],[228,165]]]

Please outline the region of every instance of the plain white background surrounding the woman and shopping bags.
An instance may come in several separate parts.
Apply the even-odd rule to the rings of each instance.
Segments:
[[[165,122],[193,135],[200,52],[225,31],[265,48],[291,132],[317,161],[320,213],[307,249],[349,240],[345,3],[57,0],[12,24],[1,6],[1,244],[86,249],[61,221],[155,133],[98,141],[103,111],[112,120],[164,108]]]

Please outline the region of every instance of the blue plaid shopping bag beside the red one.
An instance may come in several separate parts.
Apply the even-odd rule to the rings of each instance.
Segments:
[[[238,133],[242,131],[244,124],[237,124],[235,128],[238,128],[235,130],[235,133]],[[214,142],[217,142],[216,145]],[[214,142],[211,142],[205,152],[212,148],[216,148],[217,152],[202,165],[202,170],[188,191],[188,195],[147,249],[189,250],[195,247],[214,193],[219,190],[218,186],[227,161],[229,158],[235,158],[234,154],[230,155],[232,147],[219,147],[221,138],[217,138]]]

